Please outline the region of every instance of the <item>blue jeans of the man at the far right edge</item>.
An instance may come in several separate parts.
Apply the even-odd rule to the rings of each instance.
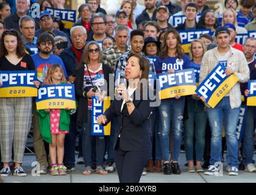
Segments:
[[[243,132],[243,164],[254,163],[254,124],[256,121],[256,107],[248,106],[246,124]]]

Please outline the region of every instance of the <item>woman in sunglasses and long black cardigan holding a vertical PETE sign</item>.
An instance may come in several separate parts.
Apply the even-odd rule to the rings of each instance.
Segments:
[[[83,54],[82,66],[77,71],[75,81],[76,96],[79,99],[77,107],[77,126],[83,128],[83,155],[85,169],[83,174],[89,176],[91,174],[92,161],[91,149],[93,135],[91,135],[91,98],[96,96],[94,88],[96,86],[101,89],[108,88],[109,74],[112,71],[109,66],[102,63],[101,48],[96,41],[90,41],[87,44]],[[102,90],[100,97],[104,96],[107,91]],[[107,175],[107,171],[103,168],[103,158],[105,153],[104,135],[95,136],[96,140],[96,172],[98,174]]]

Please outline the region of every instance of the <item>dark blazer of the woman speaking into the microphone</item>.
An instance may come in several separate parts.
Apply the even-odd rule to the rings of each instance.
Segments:
[[[107,121],[111,121],[114,117],[118,117],[118,122],[115,132],[115,143],[118,140],[119,146],[123,151],[149,151],[151,150],[151,131],[149,129],[149,116],[154,107],[150,106],[150,102],[154,97],[153,90],[149,90],[152,96],[148,98],[148,89],[144,88],[143,96],[140,96],[140,88],[138,87],[132,94],[133,104],[135,109],[129,115],[127,106],[124,104],[121,112],[123,100],[115,99],[110,108],[106,110],[104,115]],[[136,98],[135,98],[136,97]]]

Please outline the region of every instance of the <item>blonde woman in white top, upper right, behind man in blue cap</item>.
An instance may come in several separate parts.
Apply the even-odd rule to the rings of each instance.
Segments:
[[[244,27],[238,26],[236,19],[236,12],[233,9],[227,9],[223,12],[222,26],[226,23],[235,25],[237,34],[247,34],[247,30]]]

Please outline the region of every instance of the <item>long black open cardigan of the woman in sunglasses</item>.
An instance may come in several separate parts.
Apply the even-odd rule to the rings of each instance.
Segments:
[[[75,80],[75,89],[76,89],[76,99],[78,100],[77,105],[77,129],[82,128],[83,122],[88,120],[88,98],[83,96],[84,91],[84,65],[81,66],[77,71],[77,76]],[[102,70],[104,74],[104,79],[107,80],[107,89],[109,89],[109,76],[112,74],[112,70],[108,65],[102,63]],[[105,88],[105,87],[104,87]],[[107,91],[109,93],[109,91]]]

